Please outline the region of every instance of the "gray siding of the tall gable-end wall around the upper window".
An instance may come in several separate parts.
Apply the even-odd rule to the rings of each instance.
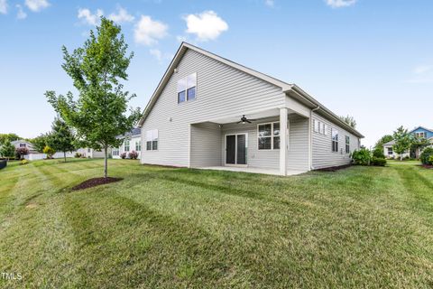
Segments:
[[[177,81],[194,72],[197,98],[178,104]],[[189,152],[196,145],[189,142],[190,124],[225,116],[241,117],[243,112],[259,107],[282,107],[285,98],[281,88],[188,50],[143,123],[141,162],[189,166]],[[158,150],[146,151],[146,132],[152,129],[159,132]]]

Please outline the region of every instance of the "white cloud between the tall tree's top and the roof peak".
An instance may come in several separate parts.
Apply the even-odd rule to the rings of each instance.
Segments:
[[[134,40],[137,43],[151,46],[167,35],[169,26],[165,23],[152,20],[151,16],[142,15],[135,24]]]

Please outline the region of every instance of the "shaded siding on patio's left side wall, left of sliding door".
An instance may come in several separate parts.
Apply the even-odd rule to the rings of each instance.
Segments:
[[[221,165],[221,128],[217,124],[191,125],[190,167]]]

